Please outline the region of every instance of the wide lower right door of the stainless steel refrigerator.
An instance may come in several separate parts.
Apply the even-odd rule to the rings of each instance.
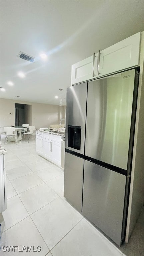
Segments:
[[[121,244],[126,176],[85,160],[82,212]]]

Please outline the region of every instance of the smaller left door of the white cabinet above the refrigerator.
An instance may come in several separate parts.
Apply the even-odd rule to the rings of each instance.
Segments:
[[[77,84],[97,77],[97,56],[98,54],[93,54],[72,65],[72,84]]]

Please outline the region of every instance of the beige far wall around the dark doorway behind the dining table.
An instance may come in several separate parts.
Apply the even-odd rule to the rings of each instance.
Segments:
[[[28,119],[26,120],[30,124],[30,118],[32,117],[32,125],[35,125],[36,129],[40,127],[49,127],[51,124],[59,124],[60,119],[64,118],[64,106],[59,107],[57,105],[1,98],[0,126],[3,127],[5,125],[15,125],[15,103],[31,105],[31,107],[26,107],[26,111],[29,109]]]

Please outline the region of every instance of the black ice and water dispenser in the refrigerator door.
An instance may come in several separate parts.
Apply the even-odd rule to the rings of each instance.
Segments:
[[[68,126],[68,147],[80,150],[81,126]]]

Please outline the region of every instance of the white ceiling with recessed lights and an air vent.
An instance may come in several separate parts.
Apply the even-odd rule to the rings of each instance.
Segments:
[[[143,30],[141,0],[2,0],[0,97],[58,105],[58,95],[65,105],[72,64]],[[37,58],[45,52],[48,60],[31,63],[20,51]]]

